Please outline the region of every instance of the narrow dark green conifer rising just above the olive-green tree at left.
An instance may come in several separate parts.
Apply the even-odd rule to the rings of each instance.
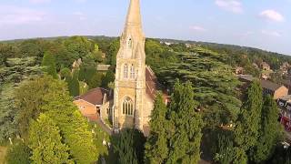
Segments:
[[[47,75],[57,78],[55,69],[55,57],[50,52],[45,52],[42,66],[44,67],[44,71]]]

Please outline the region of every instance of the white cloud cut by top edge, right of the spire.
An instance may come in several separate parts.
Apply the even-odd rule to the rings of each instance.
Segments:
[[[216,0],[216,5],[236,14],[243,13],[244,11],[242,3],[237,0]]]

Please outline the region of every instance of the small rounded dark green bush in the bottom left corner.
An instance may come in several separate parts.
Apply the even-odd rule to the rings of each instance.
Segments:
[[[6,155],[7,164],[30,164],[30,149],[23,142],[15,143],[8,149]]]

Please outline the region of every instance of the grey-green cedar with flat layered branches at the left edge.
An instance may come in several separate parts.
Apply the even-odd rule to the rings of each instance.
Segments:
[[[42,75],[41,67],[35,65],[36,57],[7,58],[5,67],[0,68],[0,141],[19,134],[15,89],[23,80]]]

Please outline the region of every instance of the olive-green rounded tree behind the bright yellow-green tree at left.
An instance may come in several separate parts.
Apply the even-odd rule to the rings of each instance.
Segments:
[[[45,112],[42,109],[45,103],[48,103],[45,102],[45,95],[51,92],[62,95],[66,90],[65,82],[48,76],[27,81],[16,89],[15,106],[18,114],[16,122],[23,135],[25,135],[31,119],[36,119],[40,113]]]

